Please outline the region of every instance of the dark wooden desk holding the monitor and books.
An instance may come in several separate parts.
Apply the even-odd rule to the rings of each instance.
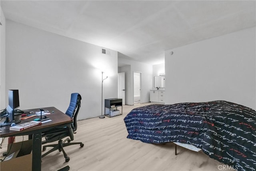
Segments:
[[[0,137],[13,137],[20,135],[32,135],[33,137],[33,147],[32,147],[32,171],[41,171],[41,156],[42,156],[42,132],[48,131],[56,126],[70,126],[73,119],[59,111],[55,107],[44,107],[43,109],[48,110],[51,114],[47,115],[52,121],[37,125],[22,131],[10,131],[10,126],[5,126],[2,129]],[[39,111],[39,109],[28,109],[29,111]],[[54,112],[52,112],[54,111]],[[40,118],[40,116],[32,117],[26,119],[25,121],[32,121],[35,118]],[[23,123],[24,121],[21,121]],[[20,123],[19,123],[20,124]]]

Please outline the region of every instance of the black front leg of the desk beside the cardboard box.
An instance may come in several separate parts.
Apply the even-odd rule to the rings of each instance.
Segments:
[[[33,135],[32,171],[41,171],[42,134]]]

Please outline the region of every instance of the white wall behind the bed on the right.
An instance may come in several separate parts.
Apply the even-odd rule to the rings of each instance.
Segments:
[[[167,50],[166,104],[226,100],[256,109],[255,36],[254,27]]]

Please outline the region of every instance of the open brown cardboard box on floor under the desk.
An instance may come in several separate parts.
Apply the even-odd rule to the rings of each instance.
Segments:
[[[32,171],[32,139],[8,144],[8,160],[0,162],[1,171]]]

